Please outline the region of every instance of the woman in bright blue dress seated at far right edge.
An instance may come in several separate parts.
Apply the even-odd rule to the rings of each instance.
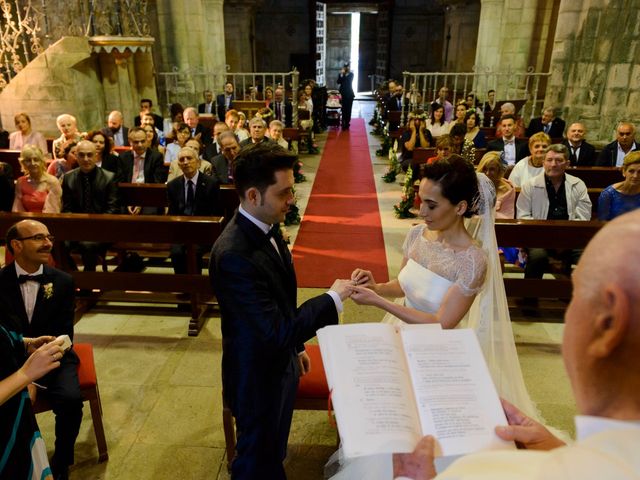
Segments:
[[[598,219],[613,220],[640,207],[640,151],[632,151],[622,163],[623,182],[605,188],[598,198]]]

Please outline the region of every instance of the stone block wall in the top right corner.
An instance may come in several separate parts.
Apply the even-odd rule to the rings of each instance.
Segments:
[[[611,141],[615,125],[640,125],[640,0],[562,0],[546,101],[587,138]]]

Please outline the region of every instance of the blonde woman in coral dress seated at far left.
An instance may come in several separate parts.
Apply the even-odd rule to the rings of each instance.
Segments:
[[[60,213],[62,187],[46,172],[44,154],[35,145],[25,145],[20,154],[24,175],[16,181],[13,212]]]

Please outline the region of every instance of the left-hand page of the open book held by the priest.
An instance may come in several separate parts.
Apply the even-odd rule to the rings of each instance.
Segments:
[[[333,325],[318,341],[345,456],[411,452],[420,420],[395,328]]]

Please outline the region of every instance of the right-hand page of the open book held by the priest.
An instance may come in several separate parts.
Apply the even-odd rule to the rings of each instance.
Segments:
[[[514,447],[494,433],[507,419],[471,329],[401,332],[420,424],[436,455]]]

